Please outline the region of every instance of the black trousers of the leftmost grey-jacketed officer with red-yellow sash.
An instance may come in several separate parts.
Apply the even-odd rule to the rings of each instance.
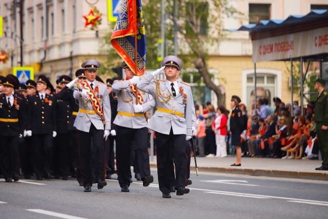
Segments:
[[[92,186],[92,166],[91,166],[91,138],[93,142],[94,162],[97,166],[95,178],[105,181],[105,146],[104,146],[104,130],[96,129],[91,123],[90,131],[84,132],[77,130],[79,164],[82,182],[84,186],[90,184]]]

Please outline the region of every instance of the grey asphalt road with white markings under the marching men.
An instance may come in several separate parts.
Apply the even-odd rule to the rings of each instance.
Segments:
[[[326,218],[328,182],[223,173],[192,174],[189,194],[162,198],[154,183],[120,192],[117,175],[83,192],[68,181],[0,179],[0,218]],[[36,183],[36,184],[35,184]],[[44,184],[44,185],[38,185]]]

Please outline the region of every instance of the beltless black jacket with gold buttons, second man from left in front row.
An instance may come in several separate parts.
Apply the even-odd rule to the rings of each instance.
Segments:
[[[39,94],[29,96],[27,130],[33,134],[52,134],[57,131],[56,99],[46,94],[44,102]]]

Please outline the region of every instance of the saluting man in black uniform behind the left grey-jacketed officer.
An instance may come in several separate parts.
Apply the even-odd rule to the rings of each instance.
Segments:
[[[85,69],[78,69],[75,72],[75,76],[77,77],[76,82],[81,82],[87,79],[85,75]],[[61,99],[63,101],[68,101],[70,103],[70,106],[72,108],[72,115],[70,116],[70,120],[67,126],[67,129],[70,131],[71,134],[71,140],[73,143],[73,152],[74,152],[74,167],[76,169],[76,180],[79,183],[80,186],[83,186],[81,174],[80,174],[80,166],[78,162],[78,141],[77,141],[77,129],[74,127],[75,118],[78,112],[78,100],[74,98],[73,92],[74,90],[71,90],[69,88],[73,87],[75,81],[71,81],[68,83],[61,91],[56,95],[58,99]]]

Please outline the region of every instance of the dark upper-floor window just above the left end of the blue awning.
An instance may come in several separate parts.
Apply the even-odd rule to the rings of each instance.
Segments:
[[[269,21],[271,11],[270,4],[250,4],[249,5],[249,18],[250,24],[257,24],[261,20]]]

